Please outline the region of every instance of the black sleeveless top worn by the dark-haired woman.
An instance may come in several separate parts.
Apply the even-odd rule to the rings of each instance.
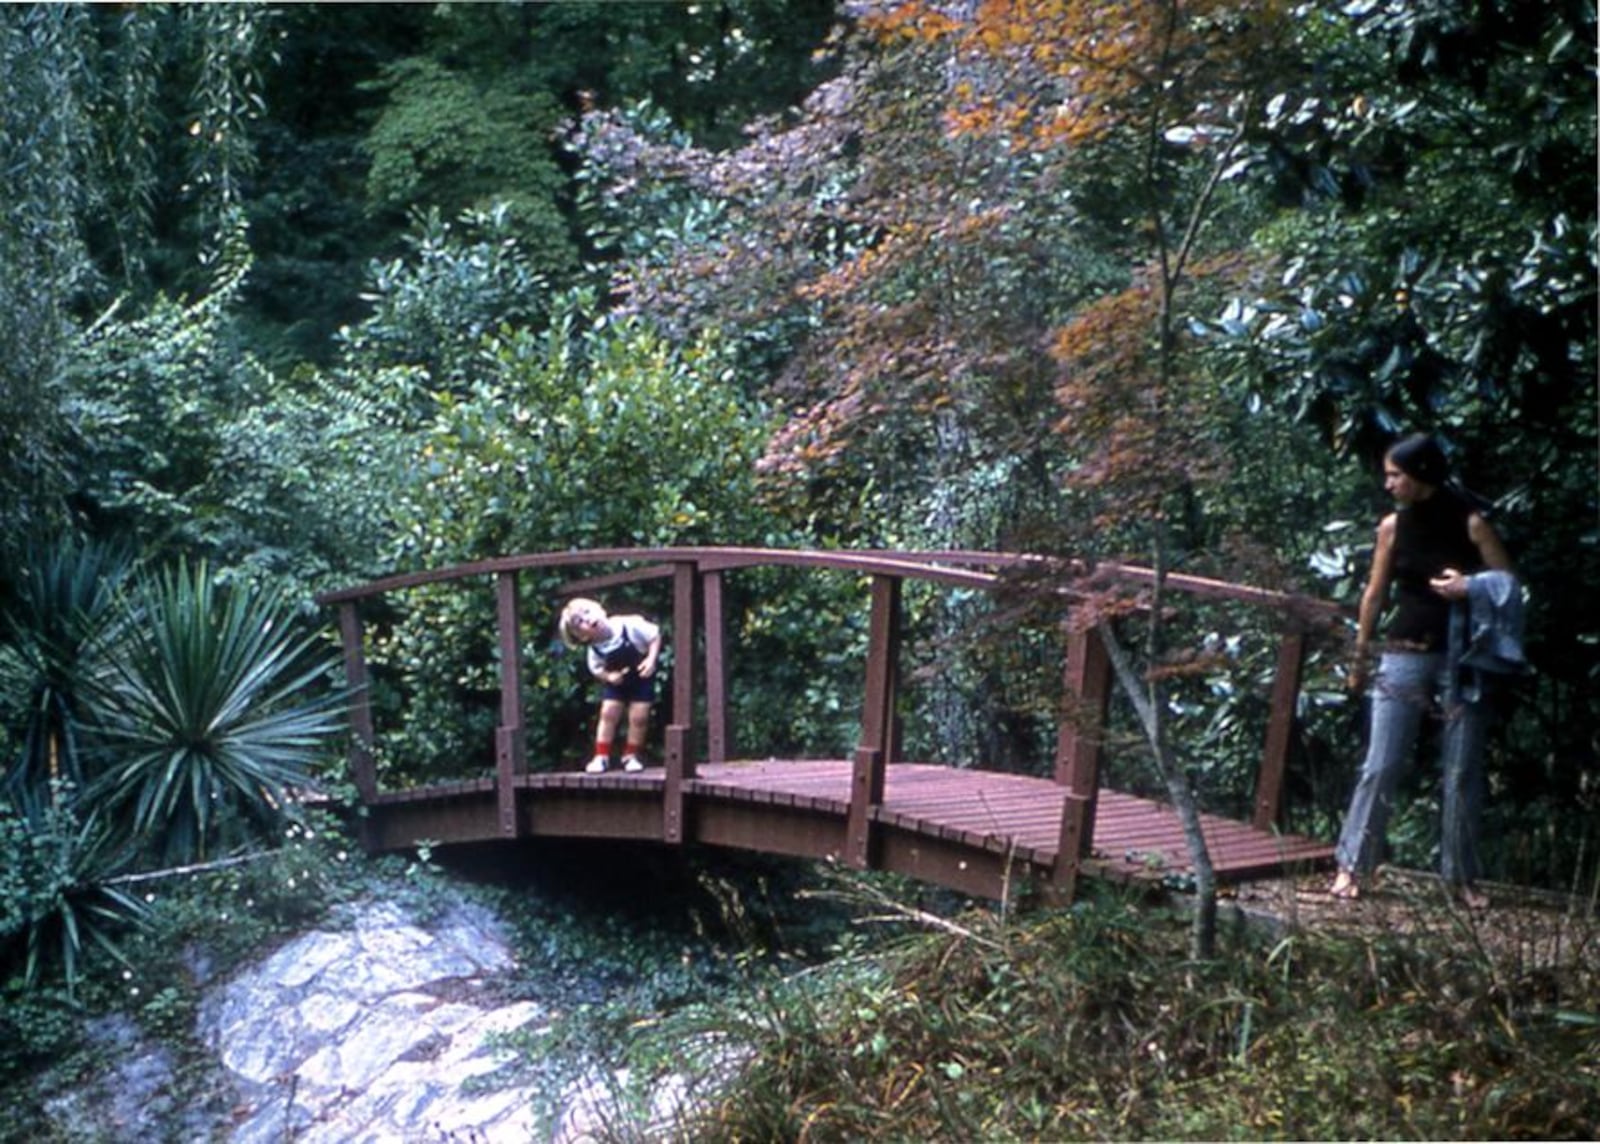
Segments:
[[[1450,637],[1450,600],[1427,586],[1446,568],[1483,571],[1478,546],[1467,534],[1474,512],[1464,498],[1438,488],[1426,501],[1395,514],[1394,597],[1389,640],[1427,651],[1443,651]]]

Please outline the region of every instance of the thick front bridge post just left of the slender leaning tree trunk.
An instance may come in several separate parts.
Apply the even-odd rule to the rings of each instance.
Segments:
[[[1110,658],[1094,629],[1067,635],[1062,693],[1061,726],[1056,731],[1056,784],[1066,790],[1051,882],[1056,893],[1070,901],[1083,859],[1094,848],[1101,738],[1110,704]]]

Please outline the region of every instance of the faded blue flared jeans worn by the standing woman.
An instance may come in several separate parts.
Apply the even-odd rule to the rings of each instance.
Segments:
[[[1370,872],[1382,856],[1384,830],[1395,789],[1411,762],[1424,718],[1442,720],[1438,762],[1443,771],[1440,872],[1450,885],[1478,875],[1478,816],[1483,811],[1483,741],[1490,730],[1485,704],[1443,707],[1448,670],[1440,653],[1387,651],[1373,680],[1373,722],[1362,778],[1350,795],[1336,851],[1339,869]]]

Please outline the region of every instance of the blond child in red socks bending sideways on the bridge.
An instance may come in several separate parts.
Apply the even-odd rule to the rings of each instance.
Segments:
[[[602,774],[611,765],[611,742],[624,710],[622,770],[630,774],[645,770],[661,629],[643,616],[608,616],[598,602],[578,597],[562,608],[560,635],[566,646],[587,650],[589,672],[602,683],[595,754],[584,770]]]

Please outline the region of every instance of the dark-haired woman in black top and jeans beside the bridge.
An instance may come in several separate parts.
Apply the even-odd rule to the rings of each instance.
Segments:
[[[1474,880],[1483,739],[1491,718],[1485,702],[1466,701],[1454,685],[1450,629],[1451,608],[1467,608],[1472,576],[1486,570],[1509,574],[1510,557],[1478,504],[1448,478],[1445,453],[1426,434],[1397,442],[1384,456],[1384,490],[1395,510],[1378,525],[1362,592],[1352,690],[1366,686],[1373,635],[1390,595],[1394,614],[1371,688],[1366,762],[1339,835],[1339,872],[1330,888],[1334,898],[1360,896],[1362,878],[1378,864],[1395,789],[1422,718],[1432,715],[1442,722],[1442,874],[1464,904],[1486,904]]]

